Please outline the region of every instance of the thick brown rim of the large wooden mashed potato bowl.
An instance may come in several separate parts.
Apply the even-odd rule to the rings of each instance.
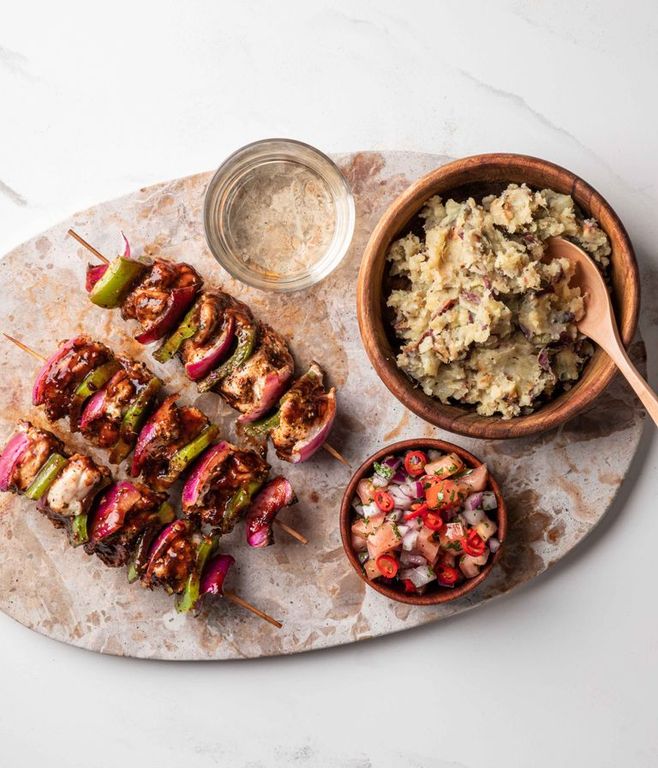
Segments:
[[[467,437],[516,438],[540,434],[553,429],[590,406],[605,390],[617,372],[614,362],[597,347],[589,364],[591,365],[595,358],[602,356],[599,374],[595,380],[588,382],[586,388],[578,387],[578,383],[583,380],[581,377],[571,390],[549,400],[533,413],[504,420],[500,416],[480,416],[472,410],[457,405],[444,405],[425,395],[420,387],[397,367],[394,355],[390,354],[391,350],[384,350],[377,343],[374,331],[382,330],[385,333],[385,322],[381,316],[379,300],[375,298],[376,295],[378,297],[378,294],[370,289],[376,279],[374,273],[378,255],[388,247],[395,237],[404,231],[422,204],[437,192],[436,186],[441,181],[456,177],[459,174],[474,174],[472,180],[477,181],[475,176],[478,170],[504,170],[505,167],[516,170],[530,168],[533,173],[550,176],[553,181],[559,177],[562,180],[562,186],[570,185],[569,193],[575,199],[586,198],[589,201],[588,206],[578,202],[578,205],[587,213],[591,213],[592,209],[604,212],[607,219],[604,229],[611,240],[617,241],[616,250],[621,254],[626,270],[625,281],[631,287],[629,295],[624,300],[624,312],[620,321],[618,317],[620,335],[625,347],[632,341],[638,322],[639,271],[628,233],[621,219],[605,198],[572,171],[548,160],[530,155],[490,153],[454,160],[417,179],[389,205],[375,225],[365,247],[357,282],[359,331],[373,368],[388,390],[404,406],[436,427]],[[465,183],[462,179],[460,182],[456,182],[454,186],[458,188]],[[529,183],[533,187],[537,186]],[[548,184],[547,181],[547,186]],[[449,194],[449,188],[441,194],[444,196]],[[405,221],[402,226],[399,223],[396,224],[400,211],[405,212]],[[441,406],[441,410],[437,406]]]

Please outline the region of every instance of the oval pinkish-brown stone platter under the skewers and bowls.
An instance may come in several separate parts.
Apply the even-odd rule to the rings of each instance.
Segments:
[[[56,640],[101,653],[153,659],[235,659],[327,648],[445,619],[505,594],[573,549],[605,515],[640,441],[644,412],[617,378],[589,411],[548,434],[519,440],[453,437],[407,411],[377,378],[356,321],[355,289],[369,233],[384,208],[411,181],[449,160],[438,155],[360,152],[338,155],[354,192],[356,232],[342,265],[320,285],[273,295],[233,281],[208,251],[202,225],[210,173],[157,184],[72,216],[0,261],[0,329],[49,353],[57,341],[84,331],[114,350],[138,357],[181,401],[195,403],[232,434],[234,413],[213,394],[199,396],[176,364],[160,366],[130,336],[117,312],[94,307],[83,290],[87,254],[66,236],[75,228],[114,255],[120,230],[133,252],[191,262],[209,285],[222,285],[290,339],[301,366],[316,359],[339,392],[332,444],[353,469],[382,445],[418,436],[453,440],[487,462],[509,505],[504,555],[488,581],[467,597],[433,607],[388,601],[368,589],[347,561],[338,526],[350,471],[320,451],[293,467],[270,457],[293,483],[299,504],[281,519],[305,534],[303,546],[277,531],[276,544],[250,550],[244,532],[226,537],[238,564],[230,587],[280,619],[277,630],[225,601],[198,616],[176,613],[165,594],[128,585],[125,569],[106,568],[10,494],[0,498],[0,609]],[[632,349],[644,362],[644,346]],[[0,440],[18,418],[47,427],[30,403],[37,363],[0,343]],[[65,425],[53,431],[90,451]],[[94,451],[90,451],[94,454]],[[104,454],[94,454],[101,461]],[[119,474],[122,474],[119,472]]]

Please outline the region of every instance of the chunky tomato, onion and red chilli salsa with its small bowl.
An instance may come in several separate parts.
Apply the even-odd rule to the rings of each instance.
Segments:
[[[453,443],[420,438],[382,448],[343,496],[343,546],[387,597],[434,605],[475,589],[500,557],[507,513],[486,464]]]

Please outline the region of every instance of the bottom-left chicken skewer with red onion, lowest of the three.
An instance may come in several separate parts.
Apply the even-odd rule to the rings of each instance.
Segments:
[[[0,491],[36,501],[39,511],[84,545],[105,565],[129,565],[129,581],[163,587],[179,596],[187,612],[204,595],[224,595],[270,624],[282,624],[234,592],[223,589],[234,563],[217,553],[216,540],[188,520],[175,519],[166,494],[129,481],[114,482],[110,471],[89,456],[69,454],[50,432],[21,421],[0,454]]]

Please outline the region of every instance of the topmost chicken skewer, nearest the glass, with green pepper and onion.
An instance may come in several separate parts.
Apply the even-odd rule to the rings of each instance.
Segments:
[[[159,362],[164,363],[178,354],[188,377],[198,382],[199,390],[218,392],[242,413],[239,418],[242,424],[262,421],[281,396],[285,397],[294,371],[287,344],[272,328],[258,323],[246,305],[221,291],[205,290],[195,294],[191,286],[200,288],[201,278],[189,265],[156,260],[150,271],[146,270],[145,265],[140,267],[140,262],[130,259],[127,241],[124,256],[109,262],[77,232],[70,229],[69,234],[104,262],[104,265],[90,267],[87,273],[87,290],[94,303],[103,307],[120,305],[124,319],[134,318],[142,328],[146,326],[146,332],[137,337],[142,343],[166,335],[149,332],[158,324],[157,318],[160,318],[159,331],[163,324],[169,330],[176,327],[173,335],[154,354]],[[139,269],[146,270],[147,276],[140,279],[133,271]],[[117,279],[122,270],[122,280]],[[112,285],[113,292],[108,290]],[[187,293],[183,295],[184,291]],[[174,296],[179,299],[178,303],[172,298]],[[179,323],[183,311],[195,296],[196,301]],[[185,306],[184,301],[187,301]],[[277,411],[281,422],[276,425],[278,431],[274,427],[268,431],[265,421],[258,434],[261,437],[269,434],[277,455],[285,461],[305,461],[323,447],[349,466],[347,460],[326,442],[335,416],[335,390],[326,393],[319,366],[314,363],[311,369],[317,386],[311,389],[297,387],[296,399],[299,400],[302,394],[306,397],[304,407],[283,408],[281,398]],[[293,389],[298,382],[293,383]],[[305,418],[301,422],[291,421],[293,414],[299,416],[302,413]],[[296,445],[289,445],[293,432],[297,434]],[[287,436],[283,444],[281,433]]]

